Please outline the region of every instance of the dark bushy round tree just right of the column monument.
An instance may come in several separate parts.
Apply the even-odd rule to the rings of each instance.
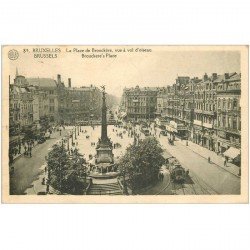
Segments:
[[[152,137],[129,146],[121,158],[120,171],[128,177],[132,190],[146,187],[158,178],[159,168],[164,164],[163,149]]]

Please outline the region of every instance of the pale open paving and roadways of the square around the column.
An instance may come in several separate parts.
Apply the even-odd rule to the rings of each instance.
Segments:
[[[56,143],[61,144],[62,138],[73,133],[69,139],[69,147],[78,148],[80,154],[89,161],[89,156],[96,154],[96,142],[101,136],[101,126],[82,126],[81,132],[75,130],[74,126],[67,126],[60,133],[53,132],[51,138],[43,144],[38,144],[33,149],[33,155],[28,158],[24,155],[15,160],[13,166],[15,168],[14,175],[11,177],[11,194],[37,194],[45,192],[46,186],[42,185],[44,169],[46,167],[45,156]],[[75,131],[76,138],[75,139]],[[140,135],[140,139],[144,139],[145,135],[140,132],[139,125],[136,125],[135,131]],[[161,171],[164,173],[163,181],[159,181],[156,185],[142,189],[142,195],[210,195],[210,194],[240,194],[240,178],[236,174],[224,169],[218,164],[209,163],[206,158],[197,153],[192,147],[192,143],[186,145],[186,141],[180,139],[175,140],[174,145],[170,145],[167,136],[160,135],[161,129],[155,128],[152,124],[150,127],[152,135],[161,143],[164,150],[168,154],[176,157],[181,165],[189,170],[190,182],[186,184],[174,184],[171,182],[169,171],[166,166],[162,166]],[[119,136],[122,134],[122,138]],[[128,130],[122,127],[108,126],[108,136],[113,144],[119,143],[121,147],[113,149],[116,161],[125,153],[128,145],[134,142],[134,137],[129,136]],[[95,145],[93,144],[95,143]],[[65,145],[66,147],[66,145]],[[202,151],[202,147],[199,146]],[[196,149],[197,150],[197,149]],[[192,160],[191,160],[192,159]],[[213,157],[211,156],[213,162]],[[223,161],[222,161],[223,162]],[[116,178],[112,180],[93,180],[93,184],[117,183]]]

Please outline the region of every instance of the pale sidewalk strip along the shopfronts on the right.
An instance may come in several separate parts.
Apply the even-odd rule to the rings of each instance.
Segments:
[[[190,150],[192,150],[194,153],[200,155],[203,158],[208,159],[208,157],[210,157],[210,161],[211,163],[214,163],[215,165],[223,168],[224,170],[230,172],[231,174],[237,176],[240,178],[239,176],[239,170],[240,168],[232,163],[227,163],[227,166],[224,166],[224,157],[221,155],[217,155],[215,152],[204,148],[198,144],[195,144],[191,141],[188,141],[188,146],[186,146],[186,140],[181,141],[180,139],[178,139],[176,141],[176,143],[180,143],[183,146],[189,148]]]

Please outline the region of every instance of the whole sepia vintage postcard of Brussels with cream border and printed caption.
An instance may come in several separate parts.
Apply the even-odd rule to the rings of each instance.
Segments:
[[[2,46],[3,203],[248,203],[248,46]]]

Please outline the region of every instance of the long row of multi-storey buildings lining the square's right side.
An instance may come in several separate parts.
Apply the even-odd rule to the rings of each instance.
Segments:
[[[241,74],[180,76],[165,88],[125,89],[127,120],[156,118],[157,125],[217,153],[241,145]],[[155,113],[153,114],[155,110]]]

